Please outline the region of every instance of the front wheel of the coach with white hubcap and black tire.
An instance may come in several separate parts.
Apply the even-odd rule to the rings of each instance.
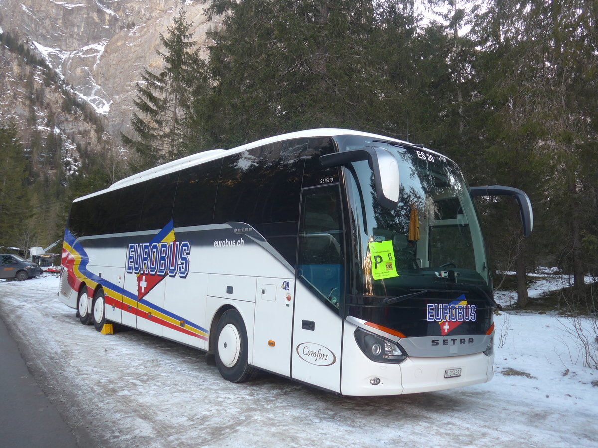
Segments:
[[[253,378],[254,369],[247,363],[247,354],[247,331],[243,318],[236,309],[228,309],[216,327],[216,366],[222,378],[233,383]]]

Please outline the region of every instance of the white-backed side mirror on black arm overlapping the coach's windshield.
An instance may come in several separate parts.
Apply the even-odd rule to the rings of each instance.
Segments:
[[[399,205],[399,165],[395,157],[384,148],[364,146],[361,149],[334,152],[320,156],[323,167],[338,167],[351,162],[367,160],[374,173],[376,198],[380,205],[395,210]]]

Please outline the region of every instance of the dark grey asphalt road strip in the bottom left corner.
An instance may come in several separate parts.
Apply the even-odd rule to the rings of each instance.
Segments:
[[[19,346],[0,316],[0,445],[77,447],[71,428],[29,372]]]

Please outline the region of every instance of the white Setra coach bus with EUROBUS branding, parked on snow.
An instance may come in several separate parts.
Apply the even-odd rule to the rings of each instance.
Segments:
[[[343,395],[493,376],[492,280],[472,196],[450,159],[319,129],[202,152],[76,199],[59,297],[106,321]]]

